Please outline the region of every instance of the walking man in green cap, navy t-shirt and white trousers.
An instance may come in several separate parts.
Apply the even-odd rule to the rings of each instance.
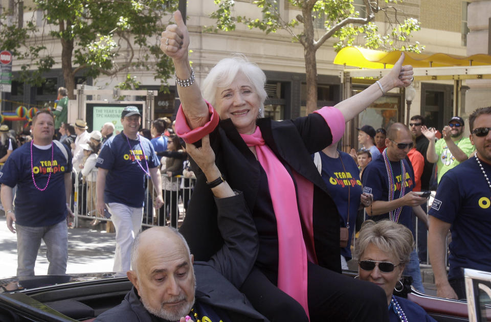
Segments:
[[[123,131],[106,141],[97,158],[97,211],[102,216],[104,203],[116,228],[114,271],[130,268],[131,243],[140,231],[145,197],[145,174],[157,193],[155,208],[161,208],[162,180],[159,159],[149,140],[138,135],[141,114],[136,106],[121,113]]]

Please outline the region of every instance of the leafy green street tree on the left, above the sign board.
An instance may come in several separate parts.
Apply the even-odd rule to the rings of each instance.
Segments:
[[[162,17],[176,10],[175,1],[33,0],[27,8],[23,4],[9,0],[0,17],[0,48],[22,63],[19,81],[39,85],[42,74],[59,63],[57,57],[71,99],[79,73],[96,78],[152,68],[155,79],[164,84],[171,75],[171,61],[162,54],[157,37],[165,29]],[[21,21],[24,11],[40,14]],[[50,41],[60,46],[48,46]],[[126,85],[132,79],[127,75]]]

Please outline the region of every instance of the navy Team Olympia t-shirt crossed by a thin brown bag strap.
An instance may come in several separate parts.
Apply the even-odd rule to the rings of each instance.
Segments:
[[[356,215],[360,205],[360,195],[362,194],[362,181],[360,180],[360,170],[353,158],[345,152],[339,151],[340,158],[332,158],[324,152],[319,152],[322,162],[321,176],[326,183],[329,195],[336,203],[340,215],[340,227],[346,227],[349,223],[348,245],[341,248],[341,255],[351,259],[351,237],[353,236]],[[344,164],[344,169],[343,169]],[[346,170],[346,172],[344,171]],[[349,212],[348,212],[348,189],[349,189]],[[349,213],[349,221],[348,219]]]

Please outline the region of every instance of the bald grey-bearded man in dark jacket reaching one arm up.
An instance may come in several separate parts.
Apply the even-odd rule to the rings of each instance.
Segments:
[[[208,144],[188,151],[205,175],[218,171]],[[204,153],[202,153],[204,152]],[[218,171],[219,173],[219,171]],[[152,227],[140,233],[131,249],[133,284],[117,307],[96,321],[266,321],[253,309],[240,287],[257,256],[257,232],[243,195],[226,181],[211,188],[218,209],[217,221],[224,246],[208,262],[195,262],[184,237],[171,227]],[[206,238],[206,233],[204,233]],[[229,282],[230,281],[230,282]]]

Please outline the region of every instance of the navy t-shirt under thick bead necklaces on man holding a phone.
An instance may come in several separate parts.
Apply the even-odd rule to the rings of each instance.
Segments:
[[[403,159],[404,166],[406,168],[406,190],[405,194],[412,191],[414,188],[414,172],[411,165],[408,163],[406,159]],[[401,169],[400,162],[392,162],[390,161],[390,165],[392,167],[393,176],[395,178],[395,190],[394,190],[394,199],[398,199],[400,196],[400,187],[401,187]],[[384,157],[379,155],[375,160],[372,160],[368,164],[368,166],[363,171],[362,175],[363,182],[363,191],[373,194],[373,201],[389,200],[389,178],[387,176],[387,170],[385,168]],[[368,210],[368,209],[367,209]],[[374,221],[387,219],[389,218],[389,213],[385,213],[378,216],[371,216],[370,219]],[[405,225],[409,229],[414,236],[414,227],[413,227],[413,208],[410,206],[403,206],[402,211],[400,212],[399,221],[400,224]]]

